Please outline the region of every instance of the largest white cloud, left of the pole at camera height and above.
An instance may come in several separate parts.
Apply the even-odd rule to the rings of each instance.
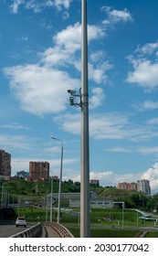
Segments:
[[[79,88],[79,80],[68,73],[37,65],[5,68],[10,87],[21,108],[37,115],[58,113],[66,109],[68,88]]]

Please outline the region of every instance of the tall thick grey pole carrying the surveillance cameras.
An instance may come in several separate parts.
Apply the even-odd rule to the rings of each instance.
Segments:
[[[87,0],[82,0],[81,25],[80,237],[90,237],[90,146]]]

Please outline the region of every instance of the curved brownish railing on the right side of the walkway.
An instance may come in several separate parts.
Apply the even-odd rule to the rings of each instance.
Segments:
[[[44,226],[51,227],[56,232],[58,238],[73,238],[74,237],[66,227],[58,224],[57,222],[45,222]]]

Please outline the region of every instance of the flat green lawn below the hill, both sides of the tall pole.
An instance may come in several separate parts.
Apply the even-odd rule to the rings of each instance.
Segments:
[[[27,207],[15,208],[16,216],[25,216],[28,222],[45,222],[46,209]],[[79,209],[76,209],[79,211]],[[47,220],[49,220],[49,210],[47,212]],[[139,215],[132,210],[121,209],[91,209],[90,212],[90,234],[92,238],[133,238],[140,232],[141,227],[153,227],[153,221],[144,221],[138,218]],[[53,221],[57,221],[57,211],[54,211]],[[62,213],[60,223],[68,226],[74,237],[79,237],[79,228],[72,228],[70,225],[79,225],[79,215],[73,213]],[[122,229],[123,227],[132,227],[134,229]],[[114,226],[117,229],[111,229]],[[70,228],[69,228],[70,227]],[[106,228],[105,228],[106,227]],[[109,227],[109,229],[108,229]],[[120,229],[118,229],[120,228]],[[147,236],[149,238],[157,238],[158,231],[150,231]]]

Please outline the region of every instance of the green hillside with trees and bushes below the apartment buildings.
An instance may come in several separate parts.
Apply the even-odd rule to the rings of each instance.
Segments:
[[[39,202],[44,200],[47,194],[51,191],[51,181],[25,181],[25,180],[12,180],[5,181],[5,190],[9,192],[10,200],[17,200],[17,197],[21,197],[24,201]],[[61,192],[79,192],[80,183],[72,182],[71,180],[62,182]],[[98,199],[111,199],[113,201],[119,200],[125,202],[126,208],[146,208],[153,210],[158,208],[157,200],[158,194],[155,197],[146,197],[140,192],[128,191],[118,189],[116,187],[96,187],[90,185],[90,191],[97,193]],[[0,197],[2,189],[0,187]],[[58,193],[58,181],[53,181],[53,192]],[[43,198],[43,199],[42,199]],[[19,199],[18,199],[19,200]],[[22,201],[21,201],[22,202]]]

